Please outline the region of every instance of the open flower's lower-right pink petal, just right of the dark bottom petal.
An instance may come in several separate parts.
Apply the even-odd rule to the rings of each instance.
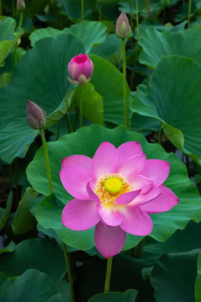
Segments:
[[[132,235],[146,236],[151,233],[153,222],[151,217],[140,207],[127,206],[120,228]]]

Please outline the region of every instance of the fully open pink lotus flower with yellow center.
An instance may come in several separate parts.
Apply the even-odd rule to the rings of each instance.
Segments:
[[[149,214],[170,210],[176,195],[162,183],[169,163],[147,160],[137,141],[119,148],[103,142],[90,159],[73,155],[62,160],[61,182],[74,199],[62,212],[62,223],[84,231],[95,225],[95,246],[106,258],[118,254],[126,233],[146,236],[152,232]]]

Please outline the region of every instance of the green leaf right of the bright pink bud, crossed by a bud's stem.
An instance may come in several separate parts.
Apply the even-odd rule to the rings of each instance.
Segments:
[[[90,83],[95,91],[102,96],[104,100],[104,120],[116,125],[124,125],[124,100],[123,100],[123,75],[110,62],[97,55],[90,54],[90,59],[94,64],[94,71]],[[129,104],[132,96],[128,84],[127,88],[127,111],[129,124],[131,122],[132,112]]]

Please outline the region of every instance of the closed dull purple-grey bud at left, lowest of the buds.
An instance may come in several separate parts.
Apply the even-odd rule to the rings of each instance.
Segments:
[[[35,130],[45,127],[47,115],[45,111],[35,103],[27,100],[27,123]]]

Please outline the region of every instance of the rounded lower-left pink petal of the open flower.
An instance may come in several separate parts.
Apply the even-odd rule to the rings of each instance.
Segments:
[[[92,200],[72,199],[64,207],[61,221],[66,228],[84,231],[92,228],[100,218]]]

